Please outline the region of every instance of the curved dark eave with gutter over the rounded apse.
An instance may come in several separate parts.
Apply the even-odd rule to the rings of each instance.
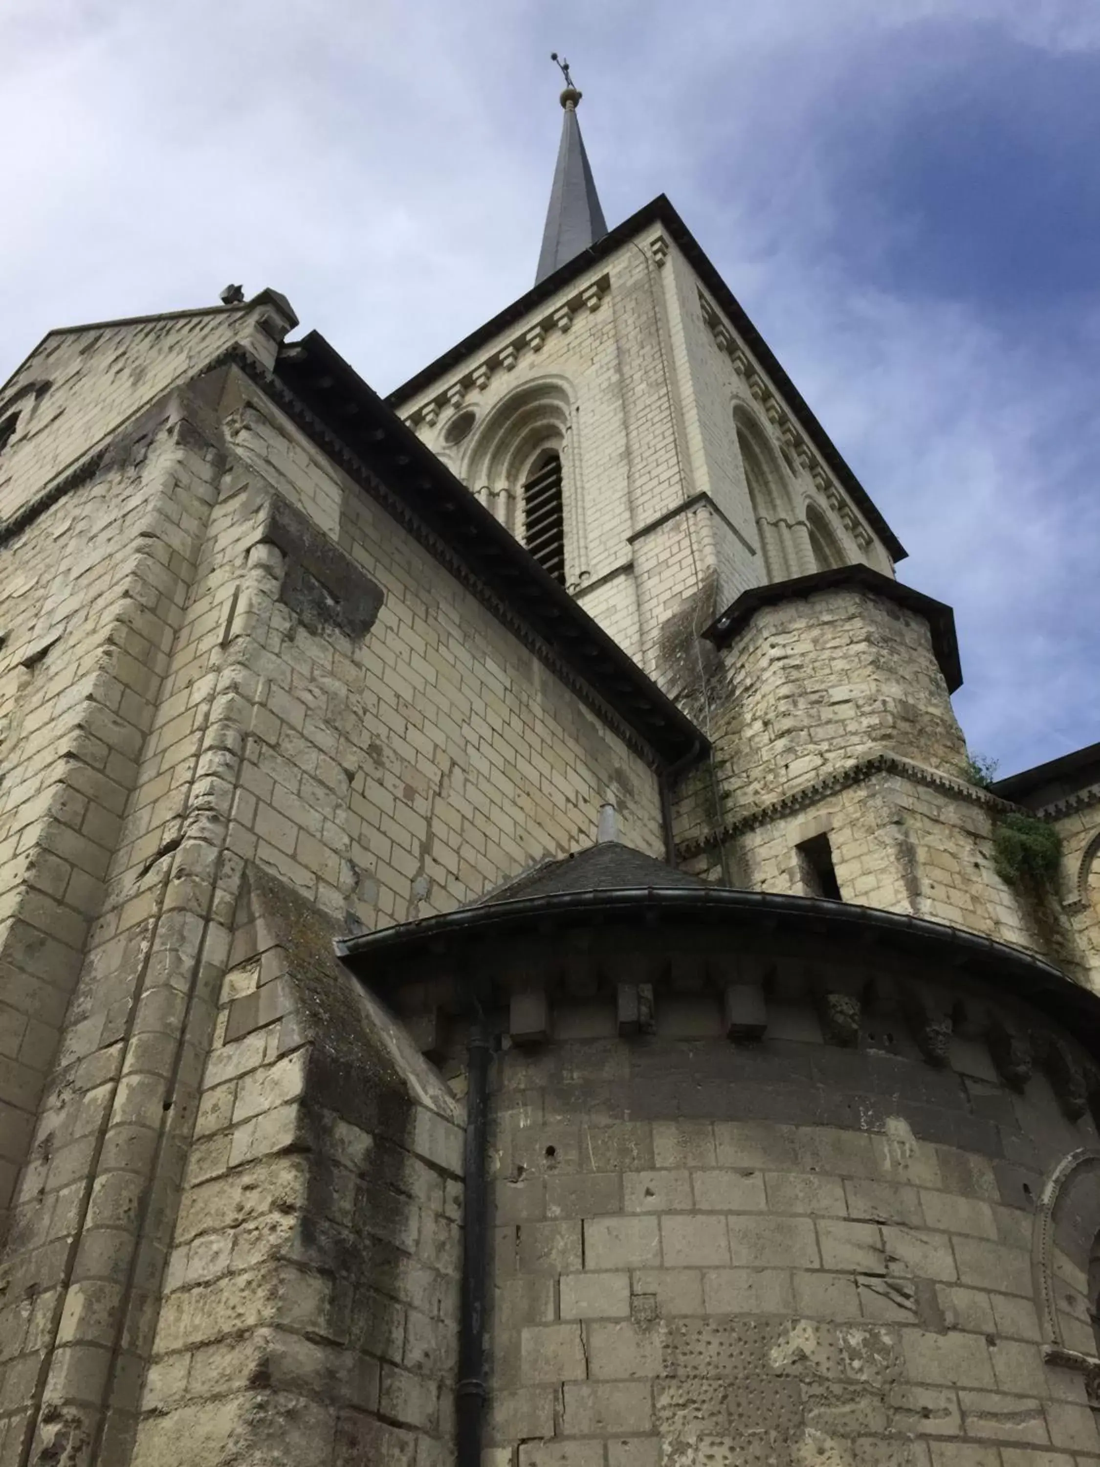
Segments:
[[[603,923],[616,914],[637,920],[647,911],[661,920],[679,923],[730,920],[739,924],[771,927],[783,920],[788,926],[804,926],[820,942],[820,926],[848,930],[854,937],[877,937],[893,942],[915,955],[943,961],[950,954],[955,971],[971,965],[977,976],[996,973],[997,978],[1016,981],[1021,996],[1040,1003],[1059,1022],[1068,1024],[1078,1036],[1087,1036],[1093,1053],[1100,1058],[1100,998],[1079,987],[1060,968],[1037,958],[1022,948],[997,942],[962,927],[857,907],[849,902],[820,896],[789,896],[776,892],[747,892],[733,888],[691,890],[686,888],[638,888],[622,890],[568,892],[543,898],[521,898],[488,907],[462,907],[439,917],[384,927],[381,932],[336,939],[333,946],[352,971],[365,959],[409,955],[446,939],[450,943],[477,942],[485,937],[521,934],[547,918]]]

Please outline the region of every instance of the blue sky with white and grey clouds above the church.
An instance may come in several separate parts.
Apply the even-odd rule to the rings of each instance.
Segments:
[[[0,378],[238,280],[389,390],[532,280],[551,50],[955,606],[971,747],[1100,739],[1088,0],[3,0]]]

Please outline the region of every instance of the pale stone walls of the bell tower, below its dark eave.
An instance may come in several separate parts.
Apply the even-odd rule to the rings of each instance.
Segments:
[[[782,534],[796,541],[788,574],[815,569],[810,500],[843,557],[889,572],[883,547],[659,229],[594,264],[399,405],[516,534],[521,449],[534,450],[540,433],[560,443],[569,588],[670,689],[678,669],[663,653],[663,634],[685,600],[705,591],[716,607],[727,606],[769,578],[735,408],[751,415],[783,480]],[[449,443],[450,424],[471,411],[472,430]]]

